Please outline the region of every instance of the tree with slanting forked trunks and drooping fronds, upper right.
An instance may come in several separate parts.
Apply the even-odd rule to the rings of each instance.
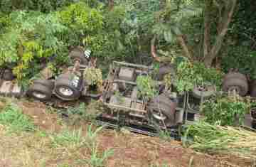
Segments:
[[[164,34],[167,42],[174,42],[181,45],[184,56],[190,60],[196,60],[195,51],[186,42],[186,33],[182,31],[184,23],[189,22],[194,16],[203,15],[203,55],[200,60],[210,67],[213,60],[217,58],[221,46],[228,32],[228,26],[232,20],[237,0],[208,0],[208,1],[175,1],[166,0],[164,9],[161,9],[159,25],[156,26],[158,36]],[[214,32],[216,34],[210,34]],[[211,39],[215,35],[215,39]],[[156,58],[154,50],[155,37],[151,42],[151,53]]]

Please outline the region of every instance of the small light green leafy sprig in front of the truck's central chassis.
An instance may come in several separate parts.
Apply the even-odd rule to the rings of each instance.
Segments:
[[[156,96],[156,83],[150,76],[140,75],[136,80],[139,94],[142,95],[145,99],[152,98]]]

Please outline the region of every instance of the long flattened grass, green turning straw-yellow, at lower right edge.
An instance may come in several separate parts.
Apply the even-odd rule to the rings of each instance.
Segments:
[[[191,137],[192,140],[189,140]],[[239,127],[195,122],[188,126],[183,144],[197,151],[233,153],[256,159],[256,133]]]

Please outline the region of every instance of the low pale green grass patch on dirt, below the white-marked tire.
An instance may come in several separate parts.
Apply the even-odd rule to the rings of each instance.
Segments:
[[[85,143],[85,139],[82,138],[82,129],[73,131],[66,129],[60,134],[56,134],[50,137],[54,147],[68,146],[71,148],[78,148]]]

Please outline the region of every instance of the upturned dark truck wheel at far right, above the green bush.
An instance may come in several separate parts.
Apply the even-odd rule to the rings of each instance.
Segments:
[[[224,92],[235,90],[240,96],[248,92],[248,83],[245,76],[237,72],[231,72],[224,77],[222,89]]]

